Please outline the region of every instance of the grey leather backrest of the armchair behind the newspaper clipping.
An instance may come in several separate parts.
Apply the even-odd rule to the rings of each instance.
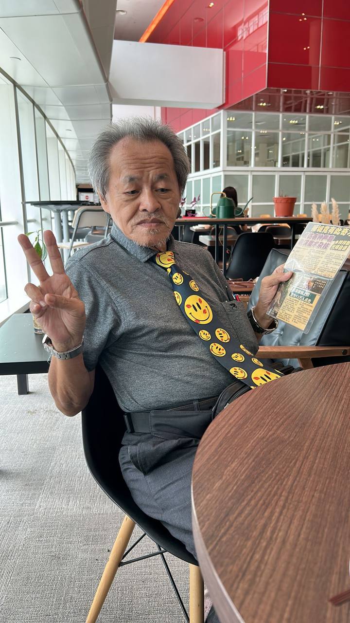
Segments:
[[[248,308],[258,302],[261,280],[270,275],[277,266],[284,264],[290,250],[273,249],[265,262],[257,284],[250,295]],[[328,292],[324,295],[319,306],[315,321],[309,333],[302,333],[299,329],[279,321],[277,330],[264,335],[261,344],[264,346],[347,346],[350,345],[350,261],[347,260],[343,268],[334,279]],[[298,366],[296,359],[283,359],[285,365]],[[316,358],[313,365],[326,366],[331,363],[350,361],[350,356],[341,358]]]

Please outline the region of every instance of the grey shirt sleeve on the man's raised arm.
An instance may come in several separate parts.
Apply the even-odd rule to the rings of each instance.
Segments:
[[[106,284],[83,260],[73,256],[65,272],[85,305],[83,358],[87,370],[92,371],[102,351],[118,338],[121,318]]]

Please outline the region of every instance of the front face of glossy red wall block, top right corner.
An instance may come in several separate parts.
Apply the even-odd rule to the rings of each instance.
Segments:
[[[268,87],[350,89],[349,0],[270,0]]]

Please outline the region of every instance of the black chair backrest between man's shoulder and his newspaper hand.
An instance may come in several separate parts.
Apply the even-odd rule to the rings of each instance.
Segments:
[[[266,232],[240,234],[232,251],[226,277],[231,279],[242,277],[244,281],[258,277],[274,244],[273,236]]]

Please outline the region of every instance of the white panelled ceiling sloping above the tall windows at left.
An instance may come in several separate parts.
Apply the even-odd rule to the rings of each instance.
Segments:
[[[0,2],[0,66],[49,118],[78,183],[88,181],[88,150],[111,120],[106,72],[116,0],[84,4],[90,24],[79,0]]]

